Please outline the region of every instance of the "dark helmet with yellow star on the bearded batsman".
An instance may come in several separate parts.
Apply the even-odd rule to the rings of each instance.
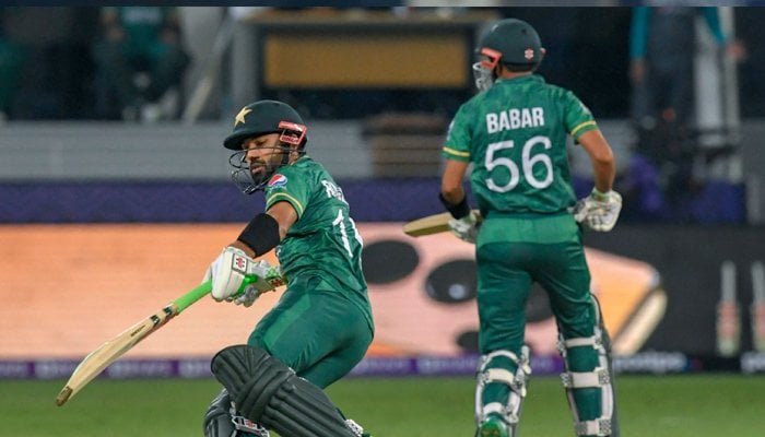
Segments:
[[[242,142],[251,137],[282,132],[282,141],[292,143],[291,139],[305,141],[306,127],[303,118],[292,106],[278,101],[258,101],[251,103],[234,117],[234,130],[223,141],[223,146],[240,150]]]

